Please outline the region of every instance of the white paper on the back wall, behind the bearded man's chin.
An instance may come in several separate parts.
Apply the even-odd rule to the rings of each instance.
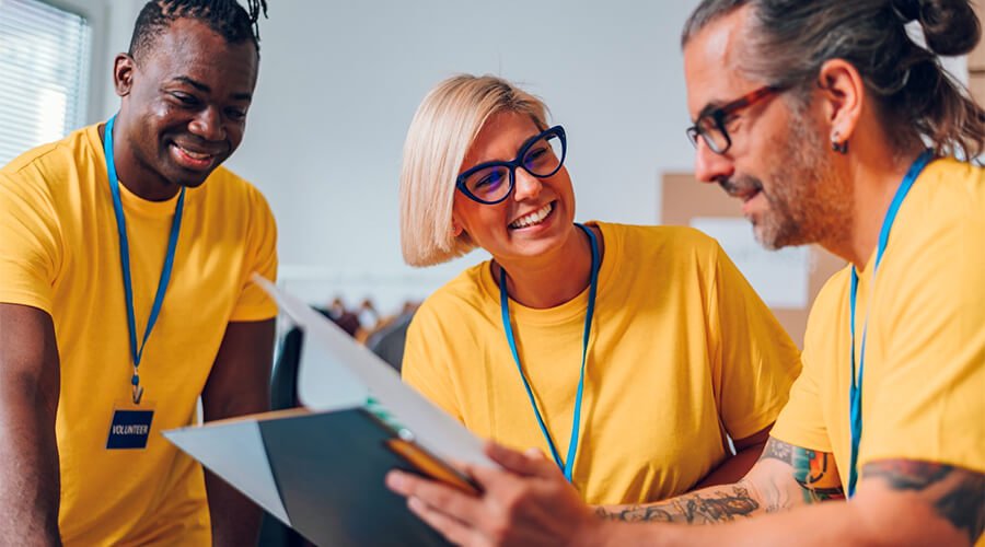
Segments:
[[[811,253],[807,246],[765,249],[745,219],[695,217],[692,228],[718,240],[752,288],[769,307],[804,309]]]

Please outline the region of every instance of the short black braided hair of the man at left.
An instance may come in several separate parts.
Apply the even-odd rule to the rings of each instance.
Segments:
[[[248,12],[236,0],[151,0],[137,15],[130,38],[130,57],[137,58],[178,19],[205,23],[229,44],[252,40],[259,56],[259,15],[267,16],[266,0],[248,0]]]

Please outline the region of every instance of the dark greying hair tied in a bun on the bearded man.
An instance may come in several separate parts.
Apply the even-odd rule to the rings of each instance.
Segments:
[[[938,155],[985,152],[985,110],[941,68],[937,55],[966,54],[981,26],[969,0],[703,0],[682,46],[708,24],[751,5],[742,71],[792,85],[803,106],[821,66],[844,59],[858,70],[896,151],[928,140]],[[926,48],[907,34],[923,28]]]

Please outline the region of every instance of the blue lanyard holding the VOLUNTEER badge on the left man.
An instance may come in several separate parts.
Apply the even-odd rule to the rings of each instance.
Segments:
[[[130,383],[134,385],[134,404],[140,403],[143,396],[143,387],[140,387],[140,375],[138,368],[140,366],[140,358],[143,356],[143,348],[147,346],[147,339],[150,338],[154,323],[158,322],[158,315],[161,313],[161,305],[164,303],[164,292],[167,291],[167,281],[171,279],[171,270],[174,266],[174,252],[177,247],[178,232],[182,229],[182,212],[185,208],[185,188],[182,187],[178,196],[177,205],[174,208],[174,221],[171,225],[171,238],[167,241],[167,255],[164,257],[164,268],[161,271],[161,280],[158,282],[158,293],[154,296],[154,304],[151,307],[150,317],[147,319],[147,329],[143,331],[143,341],[137,345],[137,321],[134,318],[134,283],[130,279],[130,245],[127,240],[127,219],[124,216],[123,202],[119,199],[119,179],[116,177],[116,161],[113,159],[113,123],[116,116],[109,118],[106,123],[105,137],[103,138],[103,150],[106,154],[106,171],[109,175],[109,191],[113,193],[113,209],[116,211],[116,230],[119,232],[119,261],[124,275],[124,291],[127,296],[127,323],[130,326],[130,352],[134,357],[134,377]]]

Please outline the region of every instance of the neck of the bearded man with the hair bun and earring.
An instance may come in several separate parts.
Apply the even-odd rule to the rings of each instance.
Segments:
[[[900,184],[923,149],[906,152],[869,154],[868,160],[851,162],[848,177],[853,188],[851,218],[847,237],[825,242],[832,253],[862,271],[879,244],[879,233]],[[872,160],[874,158],[874,160]]]

